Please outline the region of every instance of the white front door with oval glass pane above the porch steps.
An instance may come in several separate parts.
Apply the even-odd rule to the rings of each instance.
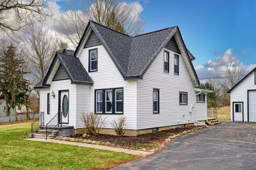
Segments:
[[[59,92],[59,112],[60,112],[60,122],[64,124],[68,124],[69,117],[69,95],[68,91],[60,91]]]

